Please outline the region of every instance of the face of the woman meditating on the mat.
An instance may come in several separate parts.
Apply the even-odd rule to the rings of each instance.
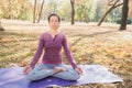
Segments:
[[[55,16],[55,15],[52,15],[50,18],[50,28],[51,28],[51,30],[57,30],[58,26],[59,26],[58,18]]]

